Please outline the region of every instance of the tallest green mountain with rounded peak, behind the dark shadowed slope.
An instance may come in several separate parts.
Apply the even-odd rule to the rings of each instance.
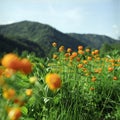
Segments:
[[[76,49],[78,45],[86,46],[75,38],[64,34],[49,25],[38,22],[22,21],[9,25],[0,26],[0,34],[11,39],[27,39],[38,43],[46,53],[51,49],[51,43],[57,42],[58,45],[64,45],[66,48]]]

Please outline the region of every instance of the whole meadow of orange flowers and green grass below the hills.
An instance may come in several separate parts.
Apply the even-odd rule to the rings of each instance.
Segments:
[[[0,120],[120,120],[120,56],[52,43],[51,58],[0,60]]]

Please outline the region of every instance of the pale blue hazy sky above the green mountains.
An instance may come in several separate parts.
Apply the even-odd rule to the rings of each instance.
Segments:
[[[120,0],[0,0],[0,25],[23,20],[64,33],[120,37]]]

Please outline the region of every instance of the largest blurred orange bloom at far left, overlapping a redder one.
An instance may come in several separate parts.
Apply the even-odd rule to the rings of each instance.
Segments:
[[[19,60],[19,58],[16,54],[9,53],[9,54],[4,55],[1,63],[6,68],[11,68],[11,69],[14,69],[14,70],[18,70],[20,60]]]

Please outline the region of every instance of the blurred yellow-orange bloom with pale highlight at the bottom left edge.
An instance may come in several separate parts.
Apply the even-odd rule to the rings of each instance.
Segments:
[[[19,107],[9,108],[8,117],[10,120],[18,120],[21,117],[22,113]]]

